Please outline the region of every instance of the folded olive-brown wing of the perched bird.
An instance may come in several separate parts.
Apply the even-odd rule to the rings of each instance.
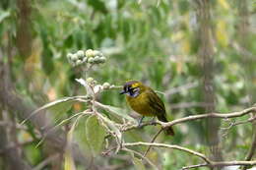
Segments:
[[[149,89],[147,92],[149,98],[149,105],[152,107],[154,111],[156,111],[155,114],[165,115],[165,107],[158,94],[153,89]]]

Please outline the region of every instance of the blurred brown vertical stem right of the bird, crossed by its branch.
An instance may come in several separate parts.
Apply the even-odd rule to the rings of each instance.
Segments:
[[[214,64],[214,43],[213,43],[213,27],[211,17],[211,2],[209,0],[198,0],[197,20],[199,24],[198,37],[199,42],[199,61],[201,61],[202,73],[202,94],[203,102],[211,103],[204,107],[206,112],[215,111],[216,96],[215,96],[215,64]],[[220,120],[206,119],[206,142],[209,144],[211,156],[216,161],[223,160],[222,148],[220,145],[220,137],[218,130],[220,127]]]

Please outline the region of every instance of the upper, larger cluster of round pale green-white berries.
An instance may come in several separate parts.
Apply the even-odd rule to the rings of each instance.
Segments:
[[[72,66],[80,66],[86,63],[102,64],[106,61],[106,58],[100,51],[93,49],[88,49],[86,52],[79,50],[75,54],[68,53],[67,58]]]

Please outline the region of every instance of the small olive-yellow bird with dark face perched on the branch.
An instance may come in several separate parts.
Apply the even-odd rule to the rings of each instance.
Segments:
[[[161,122],[168,122],[166,111],[159,95],[147,85],[139,81],[129,81],[123,85],[120,94],[126,94],[128,105],[137,113],[142,115],[139,126],[145,116],[157,117]],[[172,127],[164,129],[166,135],[174,136]]]

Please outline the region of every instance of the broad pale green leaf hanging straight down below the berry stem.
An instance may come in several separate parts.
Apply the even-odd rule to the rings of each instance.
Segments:
[[[86,137],[90,144],[93,154],[100,153],[105,137],[105,129],[98,122],[95,115],[89,117],[86,123]]]

